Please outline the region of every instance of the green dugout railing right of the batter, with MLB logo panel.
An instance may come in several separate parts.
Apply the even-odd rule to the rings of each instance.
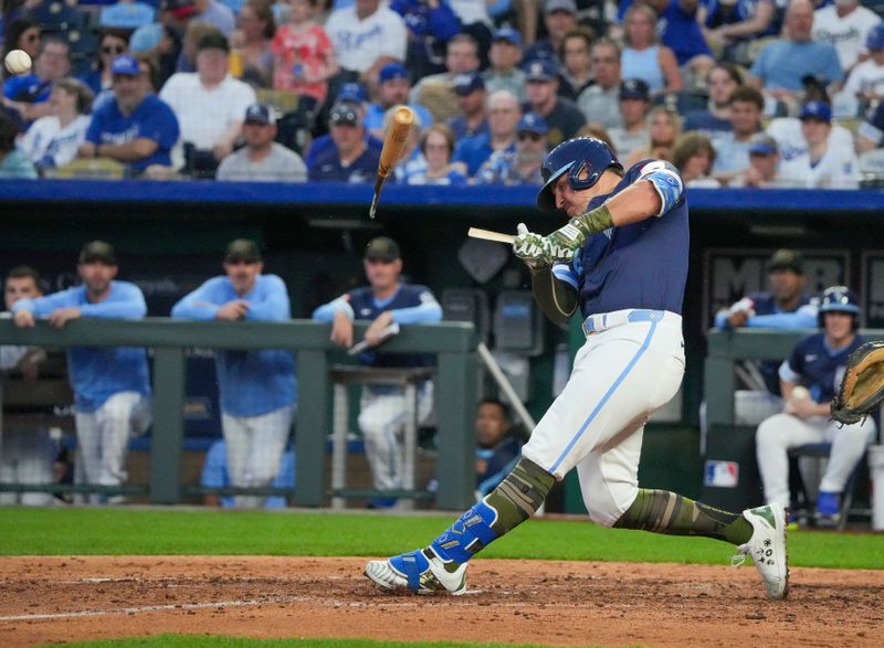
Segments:
[[[735,367],[743,360],[783,360],[804,336],[817,329],[772,331],[762,329],[712,330],[707,339],[704,394],[708,436],[704,458],[703,501],[726,510],[764,503],[755,456],[755,426],[734,422]],[[884,329],[863,329],[866,339],[884,338]],[[881,432],[878,432],[881,438]],[[716,469],[729,470],[733,481],[714,478]],[[717,482],[717,484],[716,484]]]

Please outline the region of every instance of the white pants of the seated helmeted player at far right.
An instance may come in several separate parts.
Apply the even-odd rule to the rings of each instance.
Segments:
[[[832,452],[820,490],[843,492],[851,472],[865,452],[874,434],[875,423],[845,425],[813,416],[806,421],[791,414],[776,414],[758,426],[755,435],[758,471],[765,488],[765,501],[789,506],[789,448],[804,444],[831,443]]]

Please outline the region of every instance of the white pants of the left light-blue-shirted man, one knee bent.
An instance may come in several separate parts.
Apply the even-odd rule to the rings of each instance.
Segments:
[[[150,400],[138,392],[117,392],[95,412],[77,412],[76,439],[80,468],[77,484],[119,486],[126,481],[129,438],[150,427]],[[93,503],[105,500],[90,496]]]

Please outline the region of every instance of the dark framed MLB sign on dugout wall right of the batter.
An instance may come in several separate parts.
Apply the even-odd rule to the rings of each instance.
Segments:
[[[703,330],[708,330],[715,314],[750,293],[768,290],[766,265],[774,249],[709,248],[704,252]],[[846,249],[799,251],[803,255],[804,291],[820,295],[829,286],[850,277],[850,252]],[[881,267],[881,307],[884,318],[884,254]]]

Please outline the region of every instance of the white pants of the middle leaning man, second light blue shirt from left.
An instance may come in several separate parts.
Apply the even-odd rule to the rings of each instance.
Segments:
[[[230,485],[240,488],[265,488],[280,471],[285,445],[292,431],[294,405],[285,405],[259,416],[221,415],[228,449]],[[236,496],[234,506],[256,509],[266,496]]]

